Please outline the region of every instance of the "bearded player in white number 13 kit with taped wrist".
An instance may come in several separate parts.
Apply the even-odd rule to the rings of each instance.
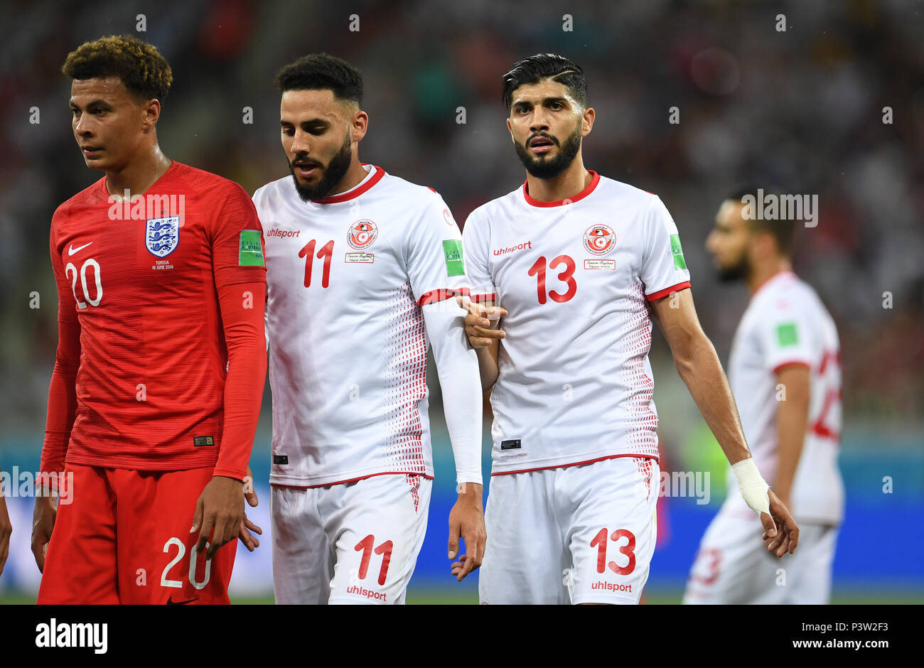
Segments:
[[[504,100],[526,183],[463,228],[467,333],[493,388],[481,602],[638,602],[660,480],[652,319],[745,498],[763,511],[768,548],[794,550],[796,524],[750,458],[699,327],[670,213],[655,195],[584,168],[594,110],[580,67],[525,58],[505,75]]]

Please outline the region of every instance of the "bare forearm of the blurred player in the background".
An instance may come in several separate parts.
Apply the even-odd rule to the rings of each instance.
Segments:
[[[773,488],[780,500],[790,505],[790,492],[802,444],[808,430],[810,383],[808,367],[787,364],[776,373],[777,387],[784,391],[776,407],[777,456],[779,466]]]

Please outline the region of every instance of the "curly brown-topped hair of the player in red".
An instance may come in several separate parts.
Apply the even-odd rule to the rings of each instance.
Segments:
[[[118,77],[140,101],[163,103],[173,72],[157,48],[131,35],[110,35],[84,42],[67,54],[61,71],[71,79]]]

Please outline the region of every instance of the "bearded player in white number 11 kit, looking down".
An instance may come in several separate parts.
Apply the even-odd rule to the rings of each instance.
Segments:
[[[401,603],[433,477],[429,344],[460,490],[449,557],[459,536],[477,562],[484,551],[461,233],[431,188],[359,162],[369,118],[355,67],[308,55],[276,84],[292,175],[253,196],[266,231],[275,599]]]

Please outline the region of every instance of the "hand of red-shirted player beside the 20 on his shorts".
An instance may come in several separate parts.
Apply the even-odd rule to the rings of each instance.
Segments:
[[[189,533],[199,531],[196,552],[201,554],[208,543],[205,558],[212,559],[220,547],[237,538],[243,521],[244,483],[225,476],[213,477],[199,495],[189,529]]]

